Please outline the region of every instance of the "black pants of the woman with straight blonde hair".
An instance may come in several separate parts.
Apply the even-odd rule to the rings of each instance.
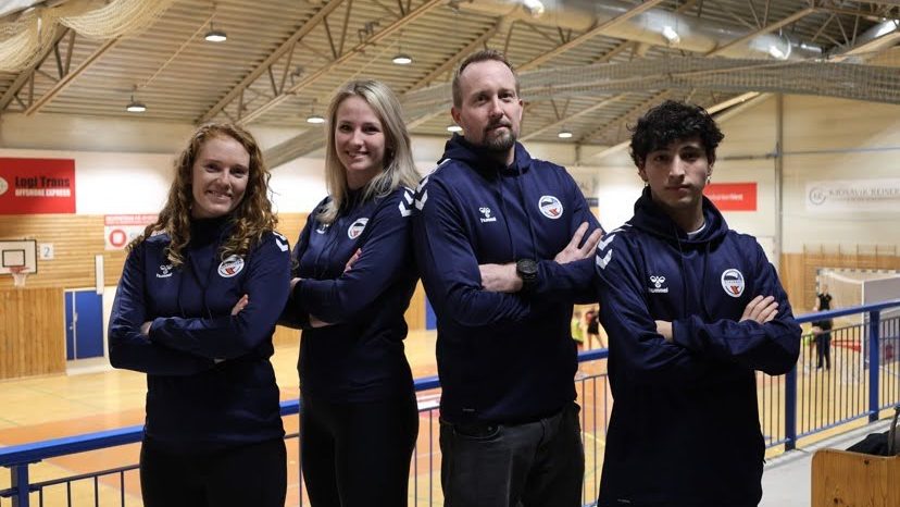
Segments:
[[[415,392],[371,403],[303,396],[300,458],[312,507],[397,507],[408,503],[418,435]]]

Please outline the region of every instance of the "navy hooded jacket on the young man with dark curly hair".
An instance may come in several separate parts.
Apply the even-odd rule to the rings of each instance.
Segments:
[[[775,269],[703,198],[692,238],[652,201],[598,245],[614,398],[598,506],[743,507],[762,497],[755,370],[790,371],[800,327]],[[741,316],[774,296],[765,324]],[[657,333],[673,323],[673,343]]]

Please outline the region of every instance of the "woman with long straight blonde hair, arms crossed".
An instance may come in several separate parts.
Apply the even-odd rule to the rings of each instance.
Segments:
[[[418,413],[403,354],[417,272],[418,173],[386,85],[342,86],[328,108],[326,197],[293,257],[286,318],[300,344],[301,456],[313,507],[407,505]]]

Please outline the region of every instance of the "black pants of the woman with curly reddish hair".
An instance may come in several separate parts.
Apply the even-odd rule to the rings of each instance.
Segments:
[[[145,507],[284,507],[287,452],[282,438],[203,455],[140,447]]]

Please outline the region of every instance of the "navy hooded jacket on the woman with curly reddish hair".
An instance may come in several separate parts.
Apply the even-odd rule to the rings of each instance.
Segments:
[[[288,297],[287,239],[265,233],[245,258],[222,260],[226,219],[196,220],[173,269],[167,234],[125,261],[110,319],[110,362],[147,373],[147,437],[176,453],[282,438],[272,334]],[[232,308],[247,294],[237,316]],[[140,332],[152,321],[149,337]]]

